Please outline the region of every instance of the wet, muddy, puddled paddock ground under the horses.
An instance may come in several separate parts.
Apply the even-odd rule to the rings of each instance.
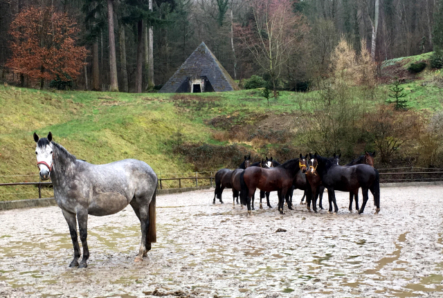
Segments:
[[[131,207],[89,216],[87,269],[68,268],[58,207],[0,212],[0,297],[443,296],[441,186],[382,188],[381,212],[370,196],[361,216],[345,193],[338,214],[296,205],[280,215],[271,194],[274,208],[252,216],[233,209],[231,194],[223,205],[212,204],[213,190],[158,196],[158,243],[143,263],[134,263],[141,233]]]

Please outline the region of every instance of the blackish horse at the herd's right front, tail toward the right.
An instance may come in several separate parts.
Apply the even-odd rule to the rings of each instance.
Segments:
[[[335,191],[355,192],[361,187],[363,192],[363,203],[359,209],[362,214],[365,205],[368,202],[368,190],[374,196],[374,205],[377,206],[376,214],[380,211],[380,178],[379,171],[370,165],[353,165],[343,167],[334,165],[329,158],[318,156],[317,153],[309,160],[309,169],[313,169],[319,176],[323,185],[327,188],[329,197],[329,212],[332,212],[332,203],[334,203],[334,212],[338,211],[335,200]],[[315,204],[315,202],[314,202]]]

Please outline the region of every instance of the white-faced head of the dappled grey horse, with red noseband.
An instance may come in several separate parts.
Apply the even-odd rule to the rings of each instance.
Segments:
[[[47,138],[39,138],[37,133],[34,133],[34,140],[37,143],[35,155],[37,156],[37,167],[40,169],[40,178],[48,180],[54,163],[53,145],[51,144],[53,134],[49,132]]]

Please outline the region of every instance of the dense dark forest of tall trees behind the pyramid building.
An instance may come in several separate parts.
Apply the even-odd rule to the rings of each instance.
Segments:
[[[266,78],[272,75],[261,66],[266,55],[254,57],[242,35],[248,26],[255,34],[262,32],[256,12],[263,5],[282,5],[298,18],[292,27],[296,40],[287,45],[287,57],[278,66],[283,89],[296,90],[306,82],[319,88],[316,82],[330,71],[331,54],[342,37],[357,52],[365,41],[379,75],[383,61],[427,53],[443,43],[442,0],[1,0],[1,78],[30,87],[41,83],[26,77],[20,82],[6,64],[12,57],[13,19],[29,8],[48,7],[77,23],[78,44],[89,53],[75,89],[116,90],[113,82],[118,82],[119,91],[152,90],[164,84],[201,41],[240,84],[251,75]],[[109,30],[110,16],[114,30]],[[264,32],[260,37],[269,36]],[[110,44],[115,44],[115,53]],[[143,55],[138,54],[142,48]],[[143,79],[138,80],[140,72]]]

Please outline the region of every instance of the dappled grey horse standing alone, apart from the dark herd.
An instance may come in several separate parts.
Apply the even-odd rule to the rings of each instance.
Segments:
[[[132,206],[141,222],[141,247],[135,261],[143,261],[143,257],[151,250],[151,243],[156,242],[157,176],[152,168],[145,162],[134,159],[120,160],[107,165],[91,165],[78,160],[52,139],[51,132],[48,133],[48,138],[39,138],[37,133],[34,133],[40,178],[47,180],[51,176],[55,201],[62,208],[69,225],[74,246],[74,259],[69,267],[88,266],[88,214],[115,214],[125,209],[128,204]],[[75,216],[83,246],[80,265]]]

